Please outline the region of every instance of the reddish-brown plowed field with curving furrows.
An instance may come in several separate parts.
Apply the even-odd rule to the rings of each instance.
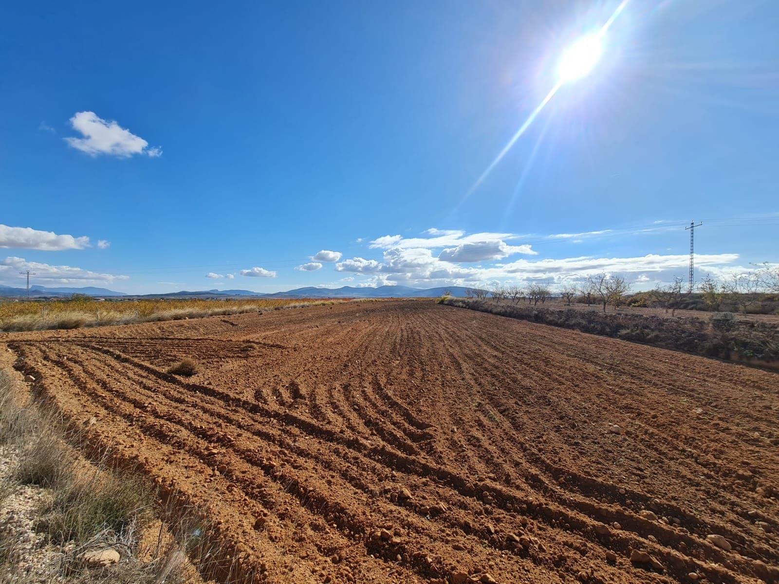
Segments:
[[[779,581],[775,373],[432,301],[0,341],[247,582]]]

